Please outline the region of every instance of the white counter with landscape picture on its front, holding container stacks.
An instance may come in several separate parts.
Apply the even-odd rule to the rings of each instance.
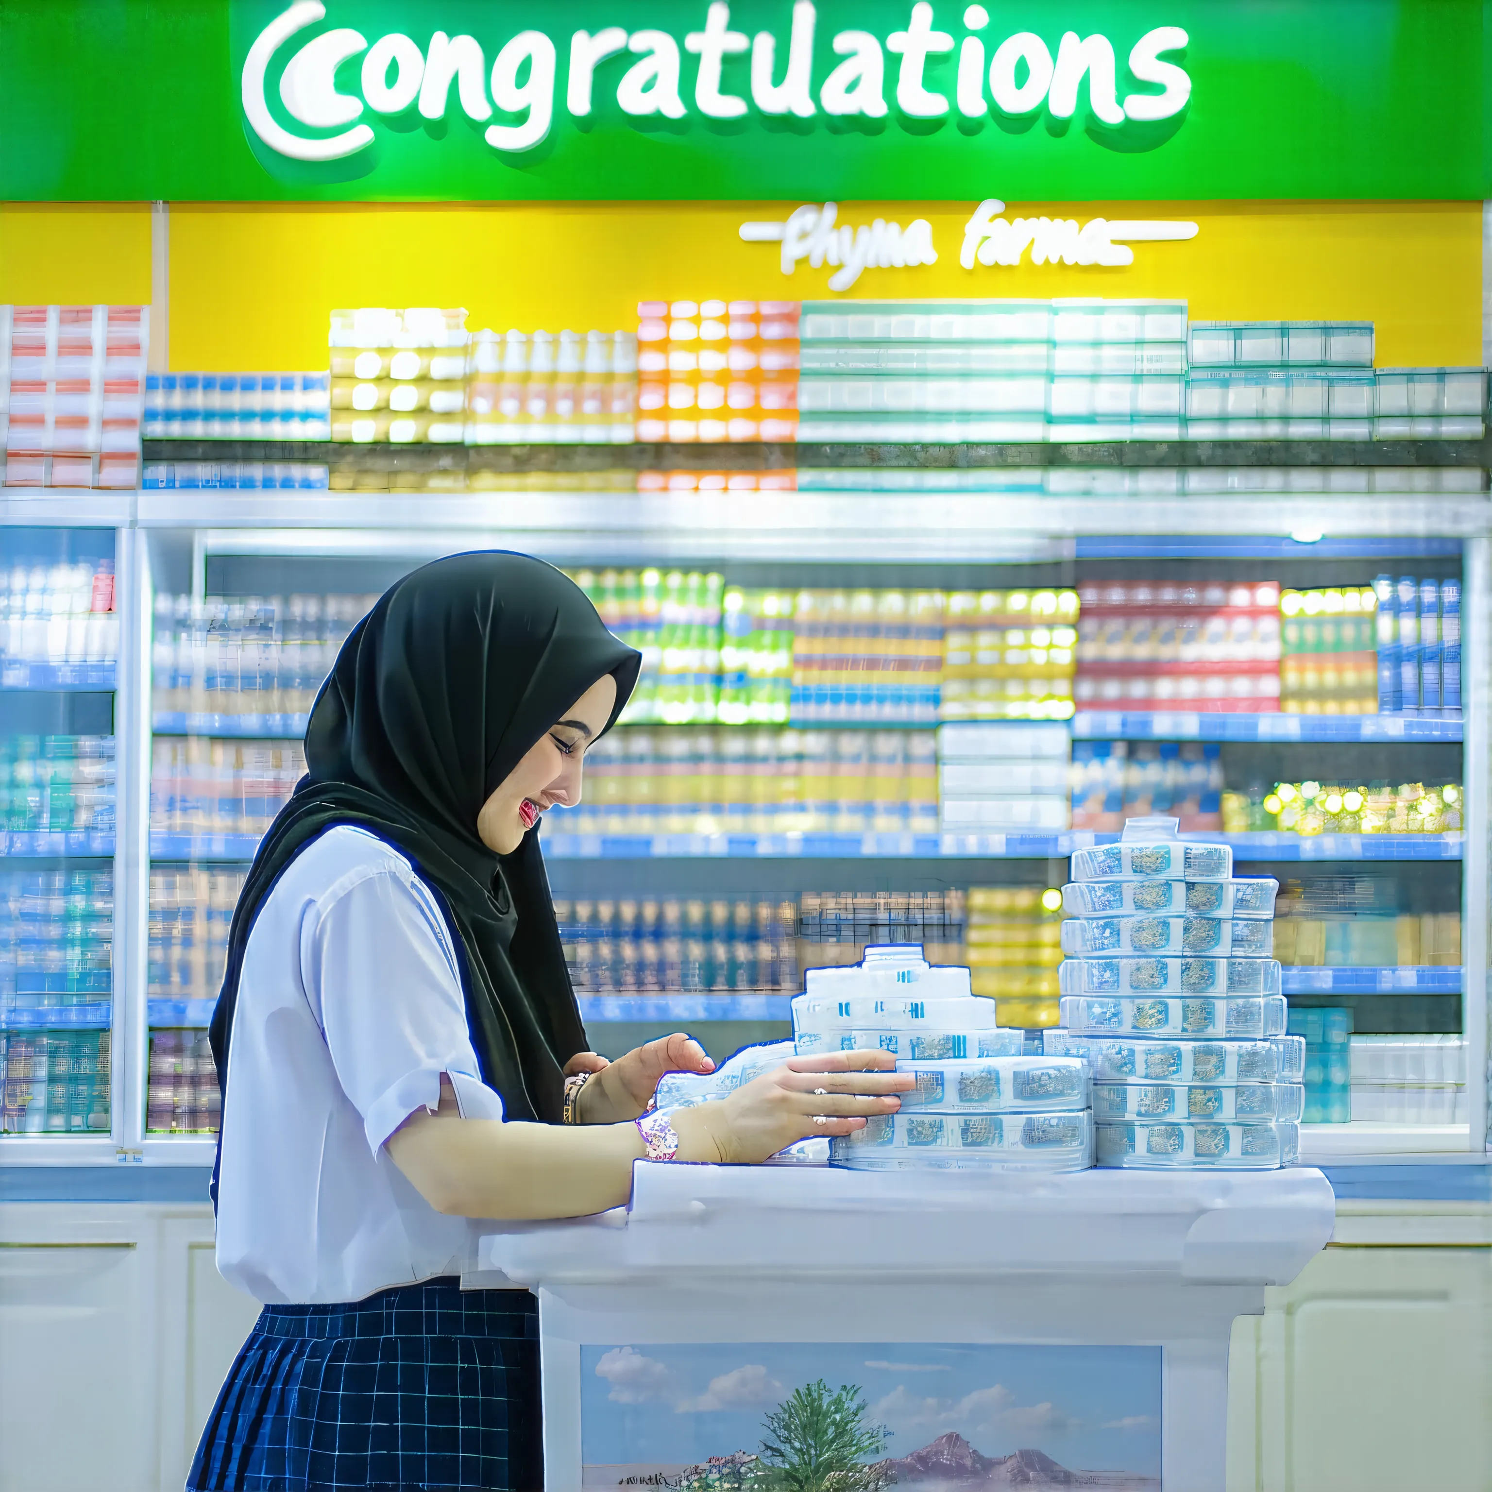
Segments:
[[[1128,1471],[1112,1488],[1155,1488],[1164,1464],[1168,1492],[1222,1492],[1232,1320],[1295,1279],[1332,1217],[1331,1188],[1308,1168],[980,1177],[639,1162],[630,1210],[488,1234],[467,1283],[539,1294],[551,1492],[755,1450],[747,1417],[798,1383],[843,1379],[852,1356],[871,1413],[895,1429],[891,1458],[941,1425],[979,1465],[1037,1449],[1070,1470]],[[712,1377],[730,1358],[721,1344],[742,1344],[745,1377]],[[730,1392],[753,1383],[756,1398],[731,1399],[716,1379]],[[1018,1402],[1026,1382],[1040,1404]],[[1058,1404],[1061,1385],[1082,1402]],[[1147,1394],[1153,1413],[1113,1410]],[[968,1408],[995,1402],[1009,1413]]]

